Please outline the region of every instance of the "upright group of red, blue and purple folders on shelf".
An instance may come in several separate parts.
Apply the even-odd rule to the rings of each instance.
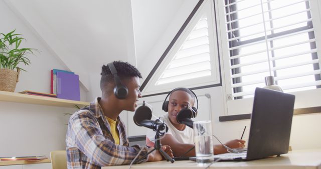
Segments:
[[[79,76],[71,71],[51,70],[51,93],[57,98],[80,100]]]

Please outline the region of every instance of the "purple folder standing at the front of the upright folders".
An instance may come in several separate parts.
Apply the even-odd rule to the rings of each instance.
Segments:
[[[77,74],[57,71],[57,98],[80,100]]]

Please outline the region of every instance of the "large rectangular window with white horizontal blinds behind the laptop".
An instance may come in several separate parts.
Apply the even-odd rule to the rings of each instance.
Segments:
[[[219,2],[228,108],[233,100],[252,97],[268,75],[284,92],[321,87],[319,15],[310,1]]]

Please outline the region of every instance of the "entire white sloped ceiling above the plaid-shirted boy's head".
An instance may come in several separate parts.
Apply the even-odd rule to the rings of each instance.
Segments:
[[[102,64],[113,60],[135,65],[143,62],[164,36],[184,0],[5,2],[48,44],[54,55],[80,75],[86,86],[89,74],[100,73]]]

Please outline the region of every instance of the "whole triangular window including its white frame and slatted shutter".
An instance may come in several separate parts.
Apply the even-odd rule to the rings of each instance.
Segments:
[[[178,86],[221,85],[214,4],[204,0],[146,86],[144,95]]]

